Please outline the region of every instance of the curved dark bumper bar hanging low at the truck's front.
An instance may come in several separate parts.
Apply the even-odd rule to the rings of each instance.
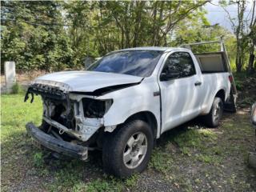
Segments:
[[[86,146],[79,146],[71,142],[65,142],[58,138],[54,138],[50,134],[46,134],[38,129],[32,122],[26,124],[26,130],[28,134],[42,146],[54,150],[59,154],[65,154],[72,158],[79,158],[82,161],[85,161],[88,157],[88,149]]]

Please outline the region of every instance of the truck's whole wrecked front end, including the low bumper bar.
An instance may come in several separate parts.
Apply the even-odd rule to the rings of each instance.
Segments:
[[[92,95],[72,93],[59,88],[59,86],[50,86],[40,83],[34,83],[28,88],[25,102],[29,99],[30,95],[30,102],[33,102],[34,94],[41,95],[42,97],[42,125],[38,129],[42,131],[42,133],[35,130],[34,125],[31,123],[28,123],[26,128],[31,136],[39,140],[38,142],[43,146],[59,153],[61,153],[60,149],[66,149],[66,147],[64,147],[66,145],[63,143],[56,144],[56,139],[58,139],[59,142],[69,142],[72,145],[74,145],[74,143],[78,144],[78,149],[81,148],[80,146],[92,148],[90,144],[96,142],[92,141],[95,138],[92,136],[95,132],[100,132],[100,130],[102,130],[101,128],[104,127],[103,116],[113,103],[112,99],[98,100]],[[35,132],[37,134],[33,134]],[[53,139],[50,139],[44,134],[53,137]],[[46,145],[46,141],[42,141],[44,139],[47,139],[49,142],[55,141],[54,146]],[[74,149],[74,147],[71,146],[70,148]],[[83,152],[81,152],[81,150],[82,149],[79,150],[80,152],[73,151],[70,154],[66,153],[66,150],[64,150],[62,153],[73,157],[83,154],[82,157],[79,157],[85,160],[85,151],[83,149]],[[74,155],[77,153],[78,155]]]

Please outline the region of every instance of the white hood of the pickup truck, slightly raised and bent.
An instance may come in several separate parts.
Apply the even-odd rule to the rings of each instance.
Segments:
[[[65,91],[93,92],[107,86],[117,86],[142,81],[141,77],[128,74],[113,74],[95,71],[63,71],[46,74],[34,80],[51,86],[59,86]]]

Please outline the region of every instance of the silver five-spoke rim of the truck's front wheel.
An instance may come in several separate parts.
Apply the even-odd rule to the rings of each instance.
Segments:
[[[142,132],[133,134],[123,150],[123,162],[129,169],[139,166],[146,156],[147,138]]]

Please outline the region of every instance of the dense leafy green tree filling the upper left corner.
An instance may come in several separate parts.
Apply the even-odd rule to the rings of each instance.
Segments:
[[[2,2],[1,63],[20,70],[61,70],[70,64],[69,38],[58,2]]]

